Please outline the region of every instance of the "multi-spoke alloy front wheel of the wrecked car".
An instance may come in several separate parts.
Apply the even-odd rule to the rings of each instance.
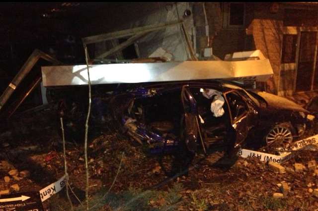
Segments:
[[[283,147],[293,142],[295,129],[290,123],[276,124],[265,136],[267,146]]]

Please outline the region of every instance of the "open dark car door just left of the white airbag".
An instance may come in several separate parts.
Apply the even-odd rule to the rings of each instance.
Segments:
[[[198,121],[199,115],[197,110],[197,103],[193,98],[188,85],[182,87],[181,102],[184,110],[184,119],[181,123],[181,130],[186,147],[190,152],[196,153],[197,145],[200,141],[203,151],[206,154],[206,146],[203,143],[201,129]]]

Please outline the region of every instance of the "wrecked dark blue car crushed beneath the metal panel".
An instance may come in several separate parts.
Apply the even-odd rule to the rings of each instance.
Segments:
[[[145,85],[114,95],[110,105],[123,130],[153,153],[180,144],[206,153],[222,144],[234,155],[249,142],[290,144],[311,127],[309,111],[296,103],[225,81]]]

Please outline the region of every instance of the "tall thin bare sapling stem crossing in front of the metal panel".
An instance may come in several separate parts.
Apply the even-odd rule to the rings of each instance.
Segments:
[[[88,211],[88,158],[87,158],[87,135],[88,135],[88,120],[90,114],[90,105],[91,105],[91,86],[90,86],[90,77],[89,77],[89,65],[88,65],[88,53],[87,53],[87,46],[84,45],[85,50],[85,60],[87,65],[87,75],[88,75],[88,111],[87,111],[87,118],[85,122],[85,141],[84,141],[84,156],[85,156],[85,172],[86,172],[86,187],[85,187],[85,202],[86,202],[86,211]]]

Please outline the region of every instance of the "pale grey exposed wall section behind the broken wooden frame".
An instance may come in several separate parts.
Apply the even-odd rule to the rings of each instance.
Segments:
[[[186,9],[192,8],[190,2],[166,3],[160,9],[145,16],[138,21],[129,25],[128,28],[147,26],[151,24],[165,23],[183,19],[186,32],[189,37],[192,36],[193,18],[192,15],[183,18],[183,13]],[[152,53],[162,48],[164,51],[172,54],[171,60],[184,61],[189,58],[187,50],[182,38],[182,33],[179,25],[167,27],[159,31],[151,32],[145,37],[138,40],[137,45],[142,58],[149,57]]]

